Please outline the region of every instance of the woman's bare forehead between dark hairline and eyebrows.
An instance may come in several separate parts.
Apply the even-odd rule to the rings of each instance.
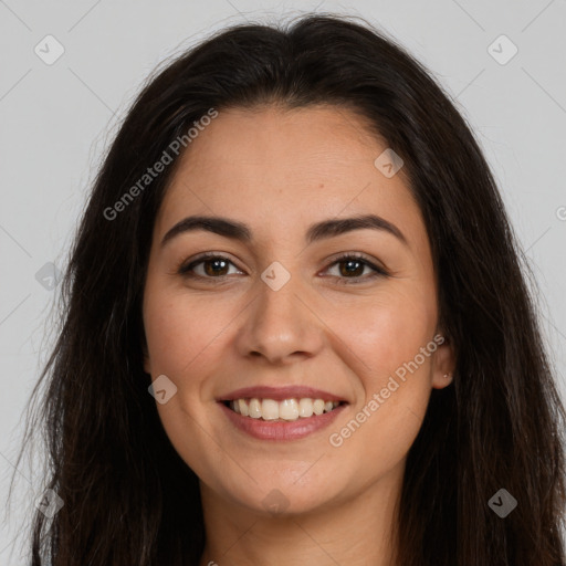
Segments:
[[[387,143],[338,106],[230,108],[203,127],[181,157],[156,229],[188,213],[229,216],[268,234],[327,218],[373,212],[408,239],[424,227],[401,170],[375,165]],[[279,232],[281,231],[281,232]]]

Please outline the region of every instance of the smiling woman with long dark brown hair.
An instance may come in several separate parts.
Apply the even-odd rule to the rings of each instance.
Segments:
[[[465,122],[368,24],[178,57],[72,250],[32,564],[564,565],[520,259]]]

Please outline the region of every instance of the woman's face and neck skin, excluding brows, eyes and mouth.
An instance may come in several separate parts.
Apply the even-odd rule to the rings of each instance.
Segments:
[[[448,343],[439,346],[340,447],[331,446],[331,433],[442,334],[420,210],[403,169],[387,178],[374,165],[386,148],[346,108],[226,109],[192,140],[166,192],[144,293],[145,369],[177,387],[157,409],[200,479],[201,566],[395,564],[391,525],[407,452],[454,360]],[[371,229],[305,243],[314,222],[366,213],[395,224],[407,244]],[[161,245],[189,214],[244,222],[253,241],[199,230]],[[231,263],[200,263],[202,280],[177,272],[207,251]],[[363,263],[348,274],[347,261],[334,259],[342,252],[363,253],[389,275],[368,279]],[[274,261],[291,275],[279,291],[261,279]],[[358,283],[340,284],[348,281]],[[253,385],[307,385],[349,405],[304,439],[258,440],[216,401]],[[272,490],[286,504],[279,514],[265,509]]]

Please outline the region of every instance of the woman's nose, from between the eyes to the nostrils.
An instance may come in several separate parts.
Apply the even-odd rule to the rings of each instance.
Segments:
[[[280,289],[265,281],[258,280],[258,294],[243,312],[239,353],[279,365],[315,356],[324,345],[324,323],[307,284],[298,275]]]

